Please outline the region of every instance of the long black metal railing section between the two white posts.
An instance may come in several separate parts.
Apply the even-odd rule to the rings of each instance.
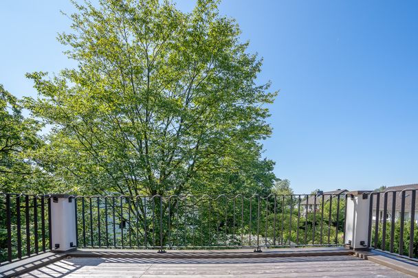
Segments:
[[[72,196],[80,248],[243,248],[344,243],[346,196]]]

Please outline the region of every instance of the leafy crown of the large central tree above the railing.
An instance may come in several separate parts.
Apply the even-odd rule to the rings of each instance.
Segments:
[[[217,1],[190,13],[158,0],[74,5],[58,40],[78,67],[28,74],[40,97],[26,100],[52,125],[37,159],[66,191],[270,191],[260,141],[276,92],[256,84],[261,60]]]

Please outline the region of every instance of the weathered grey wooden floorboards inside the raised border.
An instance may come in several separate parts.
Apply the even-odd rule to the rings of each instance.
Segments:
[[[411,277],[351,255],[223,259],[62,259],[19,277]]]

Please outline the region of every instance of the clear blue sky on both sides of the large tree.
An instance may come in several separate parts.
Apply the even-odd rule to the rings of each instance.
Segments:
[[[177,1],[190,10],[192,1]],[[270,107],[265,156],[297,193],[418,183],[418,1],[224,0],[265,62],[260,82],[281,93]],[[74,62],[57,32],[67,1],[0,4],[0,83],[36,95],[25,72]]]

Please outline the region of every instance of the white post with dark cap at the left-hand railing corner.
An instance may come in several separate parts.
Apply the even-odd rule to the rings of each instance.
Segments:
[[[51,198],[52,251],[73,250],[77,240],[75,198],[65,194],[55,194]]]

